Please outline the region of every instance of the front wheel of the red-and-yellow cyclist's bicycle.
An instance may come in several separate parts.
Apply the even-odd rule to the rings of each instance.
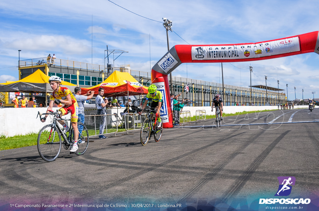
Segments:
[[[62,146],[61,135],[53,125],[42,127],[38,135],[38,151],[41,158],[47,162],[56,160]]]

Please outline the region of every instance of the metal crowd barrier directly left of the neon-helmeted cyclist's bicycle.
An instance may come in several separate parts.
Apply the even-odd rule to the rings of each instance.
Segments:
[[[128,135],[132,135],[133,133],[129,133],[129,131],[140,130],[143,121],[146,119],[147,114],[142,113],[142,115],[138,115],[138,113],[124,113],[122,119],[124,119],[125,130]]]

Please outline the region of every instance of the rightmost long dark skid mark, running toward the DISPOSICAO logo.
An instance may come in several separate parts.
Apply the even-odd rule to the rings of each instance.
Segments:
[[[252,173],[256,171],[256,169],[260,166],[263,160],[269,155],[269,153],[273,150],[273,148],[281,141],[290,131],[286,131],[282,133],[276,140],[274,140],[248,167],[245,171],[245,174],[241,176],[240,180],[235,181],[235,186],[226,191],[226,195],[223,198],[223,202],[227,201],[228,198],[237,195],[237,193],[241,190],[241,188],[246,184],[246,182],[252,176]]]

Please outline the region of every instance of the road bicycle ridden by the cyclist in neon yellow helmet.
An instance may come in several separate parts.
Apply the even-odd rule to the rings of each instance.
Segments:
[[[162,137],[163,124],[158,128],[158,117],[155,120],[152,119],[153,109],[143,109],[147,113],[147,118],[144,120],[141,127],[141,144],[144,146],[147,144],[148,140],[154,135],[154,140],[158,142]]]

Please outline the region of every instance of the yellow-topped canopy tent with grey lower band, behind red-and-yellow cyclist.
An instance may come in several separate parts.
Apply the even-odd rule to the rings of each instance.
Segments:
[[[38,69],[31,75],[22,78],[21,80],[0,84],[0,92],[52,92],[51,86],[49,84],[49,78],[49,76]],[[77,85],[62,81],[62,86],[69,88],[71,92],[73,92]]]

